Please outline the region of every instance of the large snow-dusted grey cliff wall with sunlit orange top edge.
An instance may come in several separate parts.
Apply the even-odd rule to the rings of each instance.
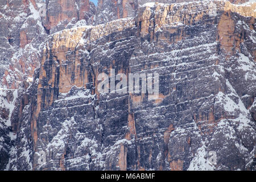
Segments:
[[[112,2],[117,18],[129,16],[126,5],[131,5],[130,1]],[[247,159],[243,156],[253,150],[255,138],[251,133],[255,132],[249,125],[240,126],[241,122],[250,122],[247,113],[240,109],[226,111],[217,103],[217,94],[222,92],[235,106],[242,95],[253,94],[249,89],[241,93],[236,82],[228,84],[243,76],[232,75],[236,71],[233,66],[239,68],[241,60],[230,60],[233,65],[229,65],[223,58],[228,53],[240,58],[240,51],[246,54],[244,49],[250,49],[243,45],[251,40],[243,31],[250,32],[253,25],[241,14],[253,13],[226,2],[214,3],[216,15],[206,2],[155,3],[141,7],[137,18],[72,28],[49,36],[31,86],[30,107],[18,108],[24,112],[20,115],[23,123],[30,123],[31,127],[26,142],[32,146],[33,169],[183,170],[196,159],[202,145],[209,147],[207,150],[218,150],[220,158],[225,159],[216,168],[245,169]],[[100,1],[99,5],[104,3]],[[61,7],[69,11],[66,5]],[[248,30],[237,27],[234,15],[248,25]],[[56,17],[56,22],[61,21],[59,14]],[[65,13],[63,17],[71,20]],[[50,20],[54,29],[55,19]],[[220,40],[218,36],[224,38]],[[19,67],[11,69],[27,73],[28,64],[22,59],[17,61]],[[250,61],[251,57],[246,63],[249,65]],[[126,75],[158,72],[163,83],[159,97],[98,93],[97,76],[102,72],[109,74],[112,68]],[[24,98],[24,103],[27,100]],[[249,102],[250,107],[254,107],[253,103]],[[228,129],[219,123],[228,125]],[[23,128],[27,130],[27,126]],[[233,130],[240,134],[226,137]],[[19,130],[18,136],[24,135],[23,131]],[[241,137],[243,132],[246,137]],[[248,151],[239,150],[233,138],[235,142],[242,140]],[[20,148],[27,148],[27,144]],[[47,151],[47,164],[40,166],[36,161],[38,151]],[[234,154],[241,155],[239,164],[228,160]],[[15,159],[23,158],[18,153],[11,158],[11,169],[29,168],[16,162]]]

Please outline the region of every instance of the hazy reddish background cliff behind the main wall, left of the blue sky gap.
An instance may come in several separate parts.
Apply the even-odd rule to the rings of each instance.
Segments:
[[[0,84],[7,89],[33,77],[40,66],[40,44],[49,34],[93,24],[96,13],[89,0],[6,0],[0,6]]]

